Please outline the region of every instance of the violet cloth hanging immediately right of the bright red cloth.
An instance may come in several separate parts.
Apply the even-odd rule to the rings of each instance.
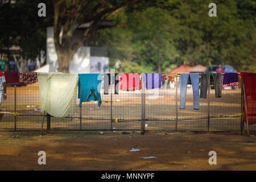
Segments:
[[[146,89],[157,89],[162,86],[162,73],[143,73],[144,83],[146,84]]]

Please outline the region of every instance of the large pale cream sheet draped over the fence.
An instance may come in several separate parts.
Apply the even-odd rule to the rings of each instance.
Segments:
[[[77,74],[38,73],[41,111],[53,117],[75,114],[71,101],[76,100]]]

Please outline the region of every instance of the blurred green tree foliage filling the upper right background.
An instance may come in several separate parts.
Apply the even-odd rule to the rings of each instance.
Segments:
[[[169,72],[183,63],[221,63],[256,72],[255,1],[217,1],[217,17],[208,16],[210,2],[129,6],[114,16],[117,27],[102,30],[98,40],[108,46],[111,61],[122,61],[121,71]]]

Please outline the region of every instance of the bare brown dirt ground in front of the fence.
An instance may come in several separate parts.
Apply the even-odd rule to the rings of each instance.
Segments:
[[[140,151],[130,152],[132,148]],[[38,164],[39,151],[46,152],[46,165]],[[216,165],[208,163],[209,151],[216,151]],[[148,156],[157,158],[141,159]],[[238,133],[0,132],[0,170],[256,170],[256,137]]]

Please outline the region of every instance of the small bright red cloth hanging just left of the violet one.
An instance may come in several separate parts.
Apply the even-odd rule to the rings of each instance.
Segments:
[[[127,91],[141,89],[139,73],[119,73],[119,89]]]

